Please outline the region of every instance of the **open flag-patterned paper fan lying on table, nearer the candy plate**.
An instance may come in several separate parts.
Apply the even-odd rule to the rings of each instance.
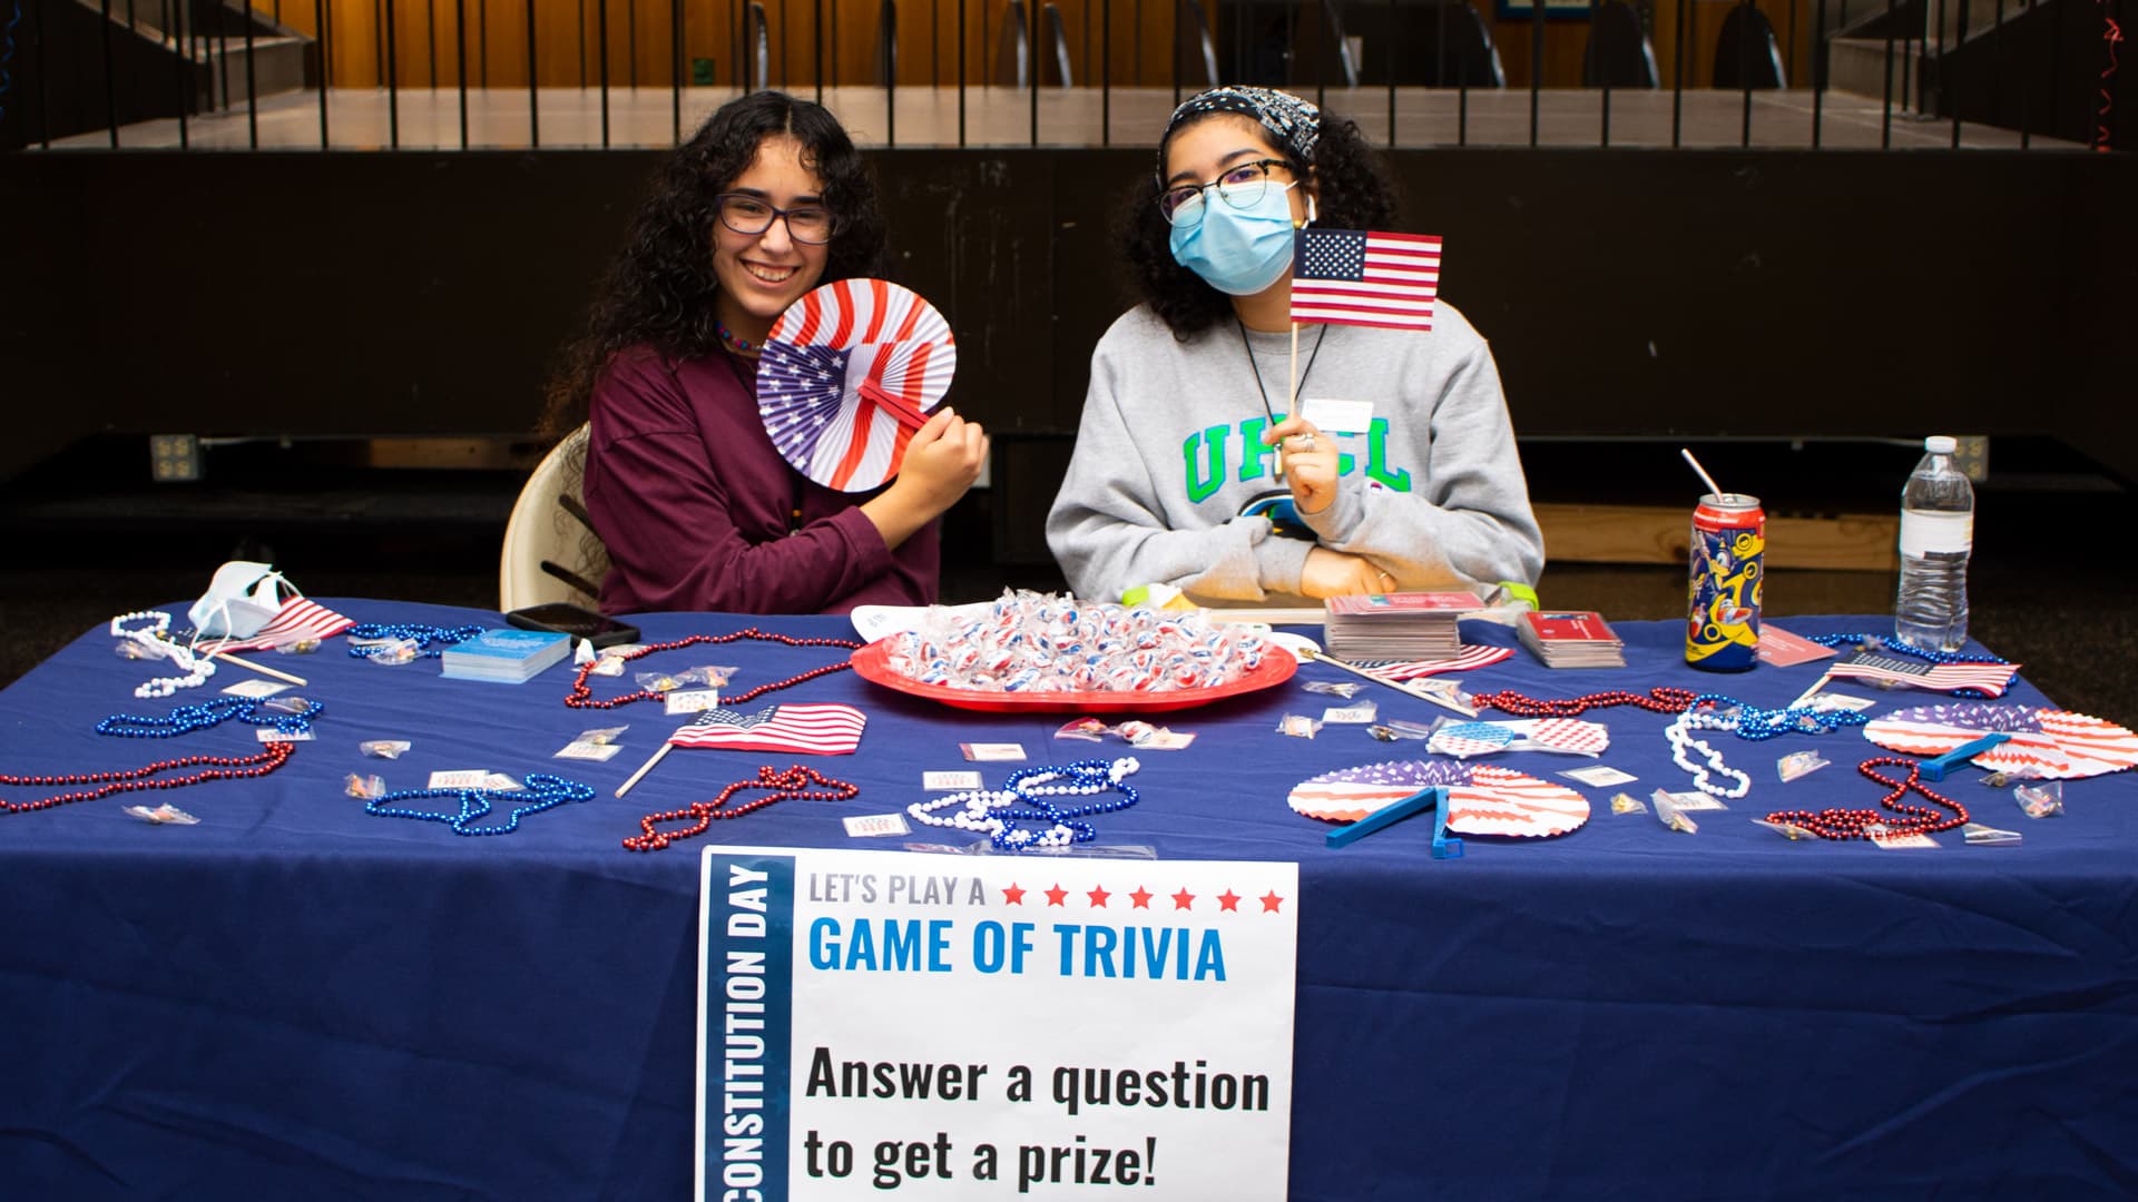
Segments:
[[[1589,821],[1589,798],[1492,766],[1445,759],[1392,759],[1323,772],[1300,781],[1285,798],[1293,811],[1323,821],[1358,821],[1420,789],[1447,787],[1447,830],[1544,838]]]

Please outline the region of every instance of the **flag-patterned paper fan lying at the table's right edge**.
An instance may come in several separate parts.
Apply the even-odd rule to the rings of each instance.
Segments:
[[[2038,706],[1916,706],[1873,719],[1864,738],[1907,755],[1943,755],[1995,731],[2010,734],[2012,740],[1971,759],[1990,772],[2076,781],[2138,766],[2138,736],[2129,729],[2091,714]]]

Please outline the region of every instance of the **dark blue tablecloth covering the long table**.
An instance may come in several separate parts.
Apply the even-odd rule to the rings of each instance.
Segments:
[[[496,614],[329,601],[357,620]],[[173,607],[180,610],[180,607]],[[648,616],[648,639],[757,622],[851,637],[832,618]],[[1794,618],[1798,633],[1877,629]],[[1527,652],[1469,674],[1533,695],[1680,684],[1779,706],[1817,665],[1685,669],[1678,622],[1621,622],[1633,667],[1548,672]],[[1512,642],[1465,625],[1471,642]],[[180,740],[92,731],[150,672],[103,631],[0,691],[0,772],[130,768],[244,755],[229,723]],[[733,644],[661,667],[740,665],[735,689],[845,652]],[[261,781],[128,793],[0,815],[0,1196],[6,1198],[684,1198],[691,1189],[697,856],[626,853],[637,817],[710,798],[793,757],[678,751],[629,798],[616,785],[680,719],[648,704],[569,710],[564,667],[528,684],[381,667],[342,639],[304,659],[319,738]],[[212,682],[242,674],[224,669]],[[1341,680],[1306,665],[1300,680]],[[616,680],[601,693],[618,691]],[[1849,689],[1860,693],[1860,689]],[[1375,689],[1383,716],[1437,710]],[[1069,714],[973,714],[840,672],[776,695],[868,712],[859,755],[815,759],[853,802],[783,802],[712,834],[847,847],[845,815],[921,800],[960,742],[1022,742],[1035,761]],[[1924,704],[1928,693],[1881,699]],[[2008,699],[2042,704],[2018,687]],[[1980,772],[1950,783],[2018,847],[1937,851],[1790,843],[1749,819],[1796,804],[1875,804],[1856,731],[1747,744],[1749,798],[1698,834],[1612,815],[1533,843],[1471,838],[1430,860],[1430,821],[1347,849],[1287,789],[1330,768],[1417,757],[1360,727],[1274,731],[1328,697],[1285,684],[1176,714],[1191,749],[1144,753],[1142,804],[1101,841],[1161,858],[1296,860],[1300,990],[1293,1198],[2127,1198],[2138,1193],[2138,783],[2065,787],[2067,817],[2025,819]],[[1881,706],[1884,710],[1886,706]],[[1685,789],[1666,719],[1599,714],[1629,789]],[[2117,716],[2117,714],[2106,714]],[[609,764],[552,759],[575,734],[631,723]],[[359,740],[406,738],[398,761]],[[1775,757],[1832,768],[1792,785]],[[1546,779],[1586,761],[1494,759]],[[370,817],[348,772],[415,787],[432,770],[558,772],[597,800],[462,838]],[[981,766],[990,783],[1003,766]],[[9,800],[53,789],[4,787]],[[203,821],[148,826],[169,800]],[[941,832],[917,832],[941,834]],[[868,847],[885,847],[868,841]],[[857,997],[855,1005],[866,1005]],[[1001,1016],[996,1016],[1001,1018]]]

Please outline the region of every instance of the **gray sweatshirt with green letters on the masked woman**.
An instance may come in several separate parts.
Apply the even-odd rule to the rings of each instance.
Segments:
[[[1298,592],[1315,543],[1240,518],[1255,496],[1289,496],[1261,445],[1270,421],[1255,372],[1283,419],[1291,336],[1246,332],[1251,370],[1240,334],[1227,321],[1180,342],[1137,306],[1099,340],[1069,475],[1048,513],[1048,545],[1078,597],[1174,584],[1208,603],[1311,603]],[[1321,545],[1370,558],[1396,588],[1537,582],[1544,537],[1499,368],[1454,306],[1435,306],[1430,334],[1302,327],[1298,361],[1306,402],[1373,404],[1364,430],[1338,436],[1336,500],[1304,518]]]

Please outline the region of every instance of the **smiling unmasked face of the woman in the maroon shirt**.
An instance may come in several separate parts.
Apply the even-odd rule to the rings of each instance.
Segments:
[[[723,192],[744,192],[780,210],[823,203],[823,180],[802,163],[802,143],[772,135]],[[795,242],[787,220],[763,233],[735,233],[714,216],[712,272],[721,280],[714,312],[738,336],[761,342],[772,321],[823,278],[830,246]]]

